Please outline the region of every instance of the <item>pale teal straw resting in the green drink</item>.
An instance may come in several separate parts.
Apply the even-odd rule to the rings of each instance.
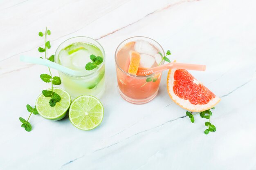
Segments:
[[[43,65],[43,66],[54,68],[58,71],[61,71],[63,73],[66,73],[66,74],[72,75],[72,76],[84,76],[85,75],[85,73],[83,73],[81,71],[74,71],[70,68],[64,67],[60,64],[57,64],[55,62],[51,62],[50,60],[43,59],[43,58],[35,58],[35,57],[29,57],[29,56],[21,55],[20,56],[20,61],[21,62],[34,63],[34,64],[40,64],[40,65]]]

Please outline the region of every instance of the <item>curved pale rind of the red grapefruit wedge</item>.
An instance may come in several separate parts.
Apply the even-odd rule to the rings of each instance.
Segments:
[[[214,106],[216,106],[216,104],[218,104],[218,102],[220,102],[220,98],[219,97],[214,97],[213,99],[211,99],[207,104],[203,104],[203,105],[195,105],[195,104],[191,104],[189,102],[189,100],[185,100],[182,99],[180,97],[178,97],[177,95],[175,95],[174,91],[173,91],[173,82],[174,82],[174,73],[177,69],[170,69],[168,71],[168,75],[167,75],[167,91],[168,94],[170,96],[170,98],[173,100],[173,102],[175,102],[177,105],[179,105],[180,107],[189,110],[191,112],[202,112],[204,110],[208,110],[210,108],[213,108]]]

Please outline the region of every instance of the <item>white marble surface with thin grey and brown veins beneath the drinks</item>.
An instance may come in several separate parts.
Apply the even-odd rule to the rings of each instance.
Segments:
[[[0,170],[256,170],[255,7],[255,0],[0,1]],[[94,130],[39,115],[31,116],[31,132],[20,127],[26,104],[49,84],[39,77],[47,68],[18,57],[40,57],[45,26],[49,54],[77,35],[106,50],[105,117]],[[191,73],[222,98],[211,119],[216,132],[204,135],[203,119],[184,117],[166,93],[166,72],[152,102],[121,98],[114,53],[135,35],[170,49],[171,60],[207,65]]]

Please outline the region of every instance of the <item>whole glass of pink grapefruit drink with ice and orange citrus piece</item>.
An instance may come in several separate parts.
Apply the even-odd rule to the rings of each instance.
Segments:
[[[118,89],[121,97],[133,104],[144,104],[158,93],[162,72],[139,75],[140,70],[164,64],[162,46],[147,37],[131,37],[115,52]]]

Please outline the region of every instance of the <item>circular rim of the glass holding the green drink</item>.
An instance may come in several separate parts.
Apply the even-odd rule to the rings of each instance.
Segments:
[[[106,54],[105,54],[105,50],[104,50],[103,46],[102,46],[97,40],[95,40],[95,39],[93,39],[93,38],[90,38],[90,37],[86,37],[86,36],[76,36],[76,37],[68,38],[67,40],[63,41],[63,42],[57,47],[57,49],[56,49],[56,51],[55,51],[55,53],[54,53],[54,62],[56,61],[56,60],[55,60],[55,57],[58,57],[58,56],[56,55],[56,53],[57,53],[58,49],[60,48],[60,46],[61,46],[62,44],[64,44],[65,42],[67,42],[68,40],[73,39],[73,38],[88,38],[88,39],[90,39],[90,40],[93,40],[93,41],[97,42],[97,43],[99,44],[99,46],[102,48],[101,52],[102,52],[102,54],[103,54],[103,62],[102,62],[102,64],[101,64],[101,66],[100,66],[99,68],[97,68],[96,71],[94,71],[94,72],[92,72],[92,73],[90,73],[90,74],[87,74],[87,75],[74,76],[74,75],[69,75],[69,74],[67,74],[67,73],[64,73],[64,72],[62,72],[62,71],[61,71],[61,73],[65,74],[65,75],[68,75],[68,76],[71,76],[71,77],[89,77],[89,76],[91,76],[91,75],[96,74],[97,71],[99,71],[99,70],[101,69],[101,67],[103,67],[103,64],[105,64],[105,60],[106,60],[106,57],[105,57],[105,56],[106,56]],[[95,44],[93,44],[93,45],[95,45]],[[95,45],[95,46],[96,46],[96,45]],[[97,46],[97,47],[98,47],[98,46]],[[64,47],[64,48],[65,48],[65,47]],[[98,48],[99,48],[99,47],[98,47]],[[56,63],[57,63],[57,62],[56,62]],[[57,63],[57,64],[59,64],[59,63]],[[60,64],[60,65],[61,65],[61,64]]]

